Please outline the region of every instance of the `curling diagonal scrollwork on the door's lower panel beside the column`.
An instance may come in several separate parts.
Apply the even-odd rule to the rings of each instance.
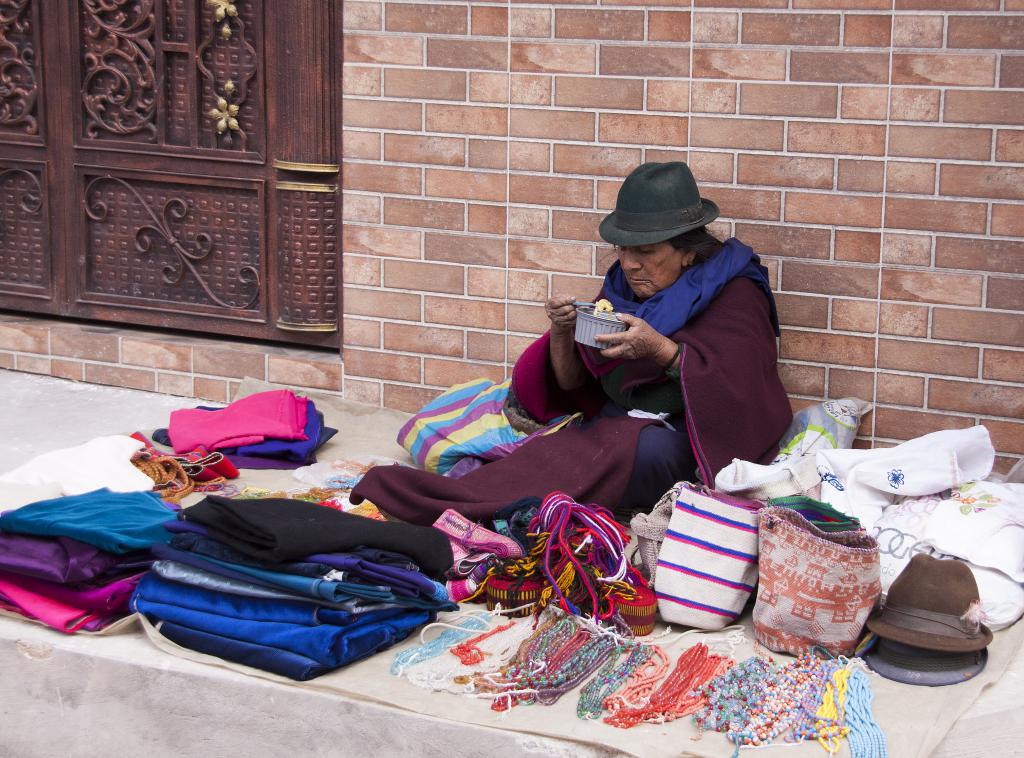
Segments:
[[[161,240],[167,249],[174,254],[176,260],[163,267],[165,284],[180,285],[185,278],[185,272],[188,272],[206,296],[221,307],[248,309],[255,305],[260,294],[259,271],[255,266],[243,265],[238,270],[239,283],[247,288],[252,288],[252,295],[245,302],[232,303],[219,297],[203,278],[197,264],[207,260],[214,253],[213,240],[206,231],[197,233],[191,241],[182,240],[175,234],[172,225],[187,218],[190,210],[190,204],[187,201],[181,198],[170,198],[164,202],[163,208],[158,212],[146,203],[134,186],[124,179],[110,175],[98,176],[92,179],[85,188],[85,213],[90,220],[104,221],[108,217],[108,204],[93,196],[95,187],[105,181],[114,182],[127,190],[138,202],[138,206],[144,214],[152,219],[134,229],[135,251],[146,255],[152,252],[155,240]]]

